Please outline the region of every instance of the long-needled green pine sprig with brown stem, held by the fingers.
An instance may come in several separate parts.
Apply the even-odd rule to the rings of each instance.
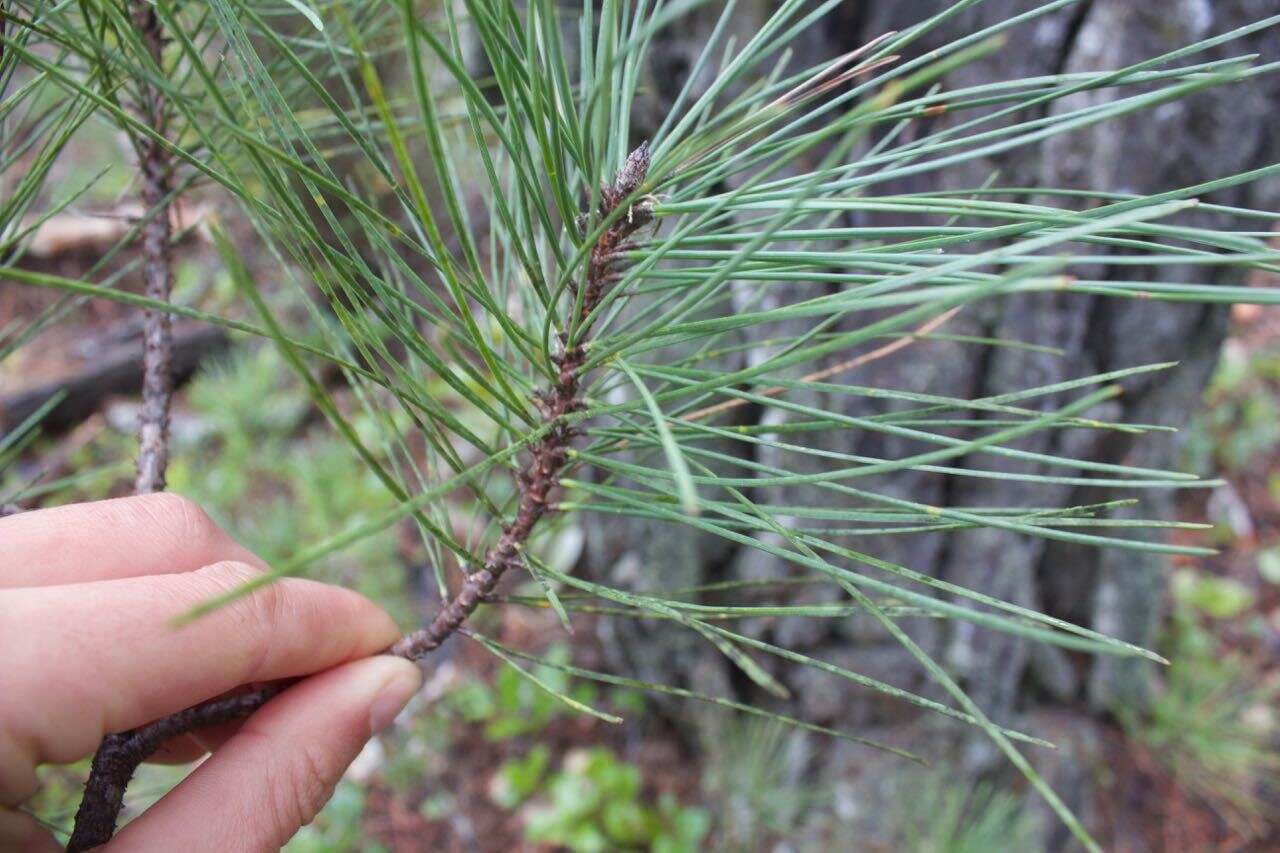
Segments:
[[[1165,429],[1108,423],[1098,406],[1120,393],[1126,377],[1171,365],[1138,364],[978,400],[858,386],[858,368],[915,357],[913,342],[945,337],[956,311],[1018,293],[1275,304],[1280,292],[1271,289],[1158,278],[1176,266],[1280,269],[1263,231],[1275,214],[1213,204],[1216,191],[1271,178],[1280,165],[1156,196],[1004,187],[998,175],[965,191],[887,187],[1203,90],[1229,97],[1231,86],[1277,64],[1203,54],[1280,17],[1126,68],[950,90],[948,72],[1001,50],[1019,28],[1074,0],[1037,4],[941,49],[918,50],[924,33],[979,3],[946,4],[914,27],[805,68],[794,67],[788,45],[823,26],[835,0],[782,0],[748,38],[727,35],[733,0],[588,0],[575,9],[553,0],[332,0],[308,4],[305,15],[293,0],[155,0],[166,40],[159,63],[131,35],[118,0],[19,1],[3,36],[5,55],[64,93],[74,105],[64,120],[100,113],[161,146],[187,183],[212,184],[236,202],[253,233],[218,229],[215,240],[252,316],[169,306],[114,289],[114,279],[96,273],[82,280],[33,273],[8,256],[0,277],[221,324],[279,347],[397,505],[314,543],[255,584],[302,573],[412,520],[445,605],[396,653],[422,658],[462,633],[575,710],[605,720],[616,717],[557,692],[526,665],[879,745],[773,710],[783,704],[767,710],[541,661],[467,628],[481,606],[549,607],[566,628],[580,612],[667,620],[780,698],[786,686],[759,663],[764,657],[977,726],[1080,843],[1096,848],[1015,745],[1044,743],[995,725],[899,620],[927,615],[1093,654],[1160,656],[864,553],[856,539],[995,528],[1082,546],[1206,553],[1132,537],[1172,523],[1108,517],[1143,489],[1206,482],[1016,446],[1038,430]],[[719,23],[666,118],[640,138],[632,120],[646,95],[646,51],[655,33],[704,5],[719,8]],[[59,59],[37,42],[54,46]],[[122,106],[120,81],[164,93],[172,111],[164,134]],[[1111,96],[1069,100],[1101,90]],[[1050,104],[1065,106],[1033,109]],[[922,123],[942,113],[947,123]],[[1197,206],[1231,216],[1238,228],[1197,225]],[[860,227],[852,224],[858,213],[892,213],[908,224]],[[1142,274],[1091,279],[1091,265],[1114,248],[1124,254],[1105,263]],[[251,252],[262,256],[247,263]],[[305,318],[278,307],[280,287],[305,298]],[[321,370],[339,374],[349,397],[335,397]],[[845,394],[895,409],[855,418],[812,402]],[[1050,396],[1074,398],[1039,407]],[[376,428],[358,429],[352,406]],[[773,416],[741,425],[733,414],[744,406]],[[804,441],[847,429],[924,450],[877,459]],[[735,451],[753,446],[774,452],[760,461]],[[984,457],[1053,473],[965,462]],[[932,506],[865,485],[870,475],[904,471],[1089,484],[1117,497],[1078,507]],[[850,508],[765,497],[767,487],[797,485],[838,496]],[[460,512],[468,515],[463,524]],[[575,516],[590,524],[594,514],[686,525],[778,557],[797,575],[639,593],[552,565],[547,549],[556,533]],[[595,569],[608,576],[608,567]],[[503,576],[525,573],[536,594],[502,592]],[[795,583],[829,584],[841,601],[759,603],[762,589]],[[739,605],[703,603],[707,592],[717,601],[751,594]],[[869,615],[901,643],[946,701],[735,628],[750,616],[854,613]],[[223,711],[243,713],[247,704]]]

